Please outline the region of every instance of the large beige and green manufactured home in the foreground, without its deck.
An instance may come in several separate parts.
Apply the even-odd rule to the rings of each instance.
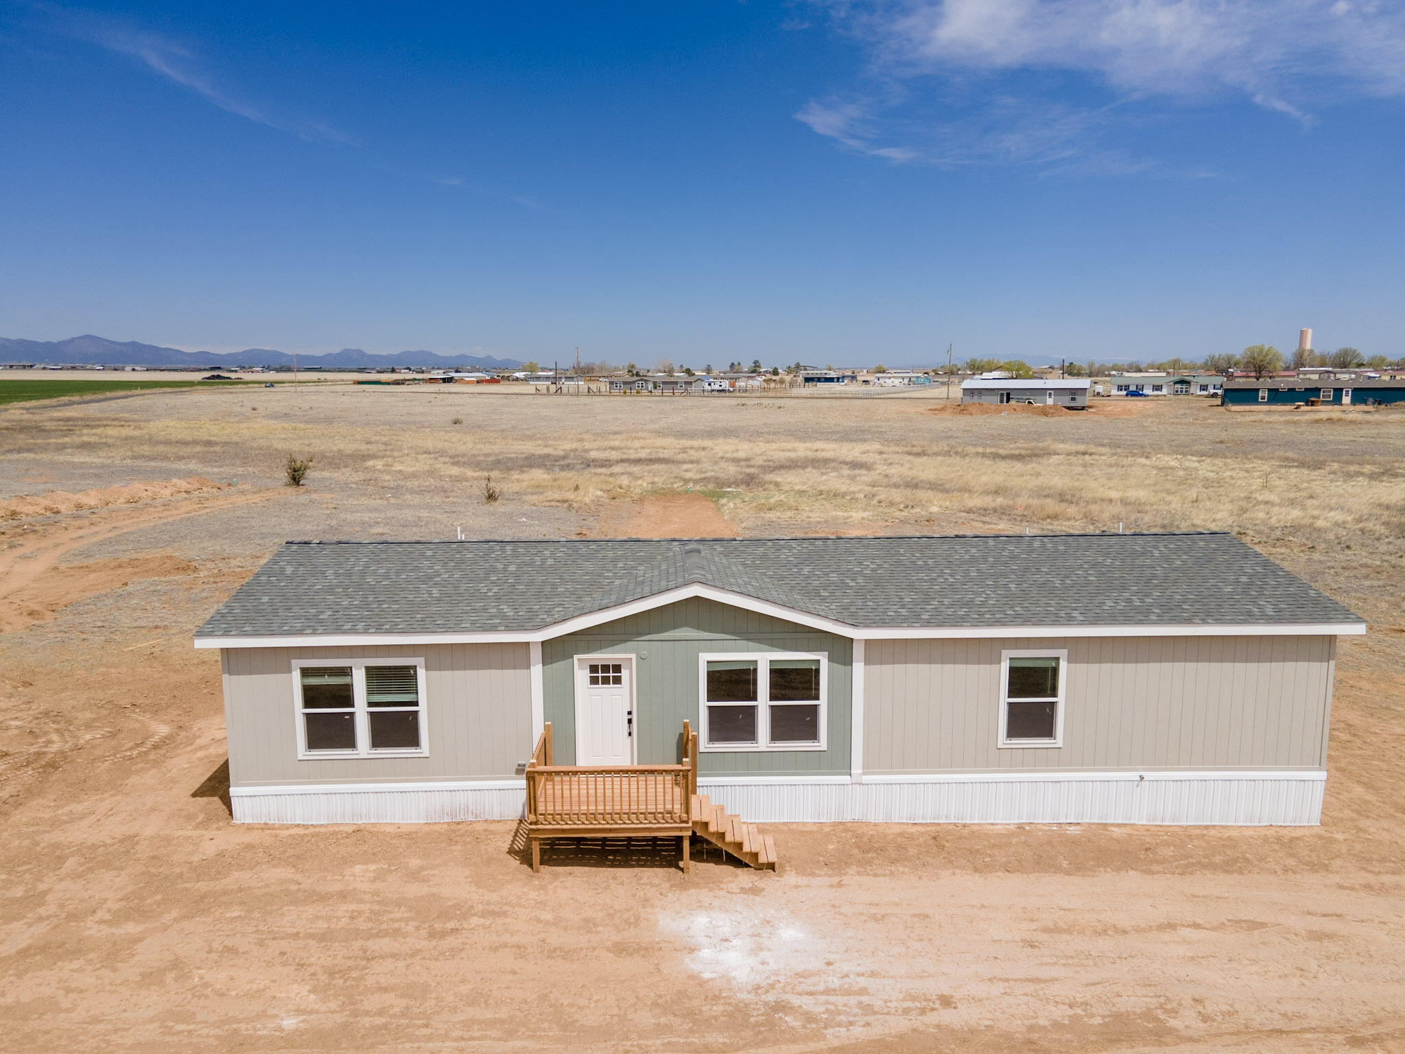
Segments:
[[[691,735],[750,821],[1316,824],[1364,628],[1229,534],[289,542],[195,646],[236,822],[510,819],[544,742]]]

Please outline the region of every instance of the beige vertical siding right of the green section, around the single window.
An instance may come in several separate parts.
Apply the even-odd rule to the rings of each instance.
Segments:
[[[999,748],[1000,652],[1068,649],[1064,745]],[[1324,769],[1335,637],[868,641],[864,770]]]

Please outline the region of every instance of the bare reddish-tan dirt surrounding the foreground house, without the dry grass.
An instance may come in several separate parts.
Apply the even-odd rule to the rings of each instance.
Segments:
[[[52,555],[17,590],[39,616],[0,632],[7,1050],[1405,1050],[1387,557],[1300,565],[1373,613],[1342,646],[1321,828],[773,825],[777,874],[705,859],[684,878],[639,845],[548,852],[532,876],[513,824],[229,822],[194,628],[270,538],[406,535],[426,509],[264,490],[0,524],[7,566]],[[733,530],[693,502],[618,514]],[[454,510],[475,514],[599,524]],[[74,531],[90,544],[56,552]]]

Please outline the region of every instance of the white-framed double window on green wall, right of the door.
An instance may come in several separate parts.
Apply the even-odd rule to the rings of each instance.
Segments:
[[[704,750],[816,750],[825,739],[822,655],[700,656]]]

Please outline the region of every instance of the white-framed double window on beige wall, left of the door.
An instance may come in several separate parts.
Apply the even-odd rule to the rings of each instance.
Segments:
[[[294,662],[302,757],[424,753],[423,663]]]

